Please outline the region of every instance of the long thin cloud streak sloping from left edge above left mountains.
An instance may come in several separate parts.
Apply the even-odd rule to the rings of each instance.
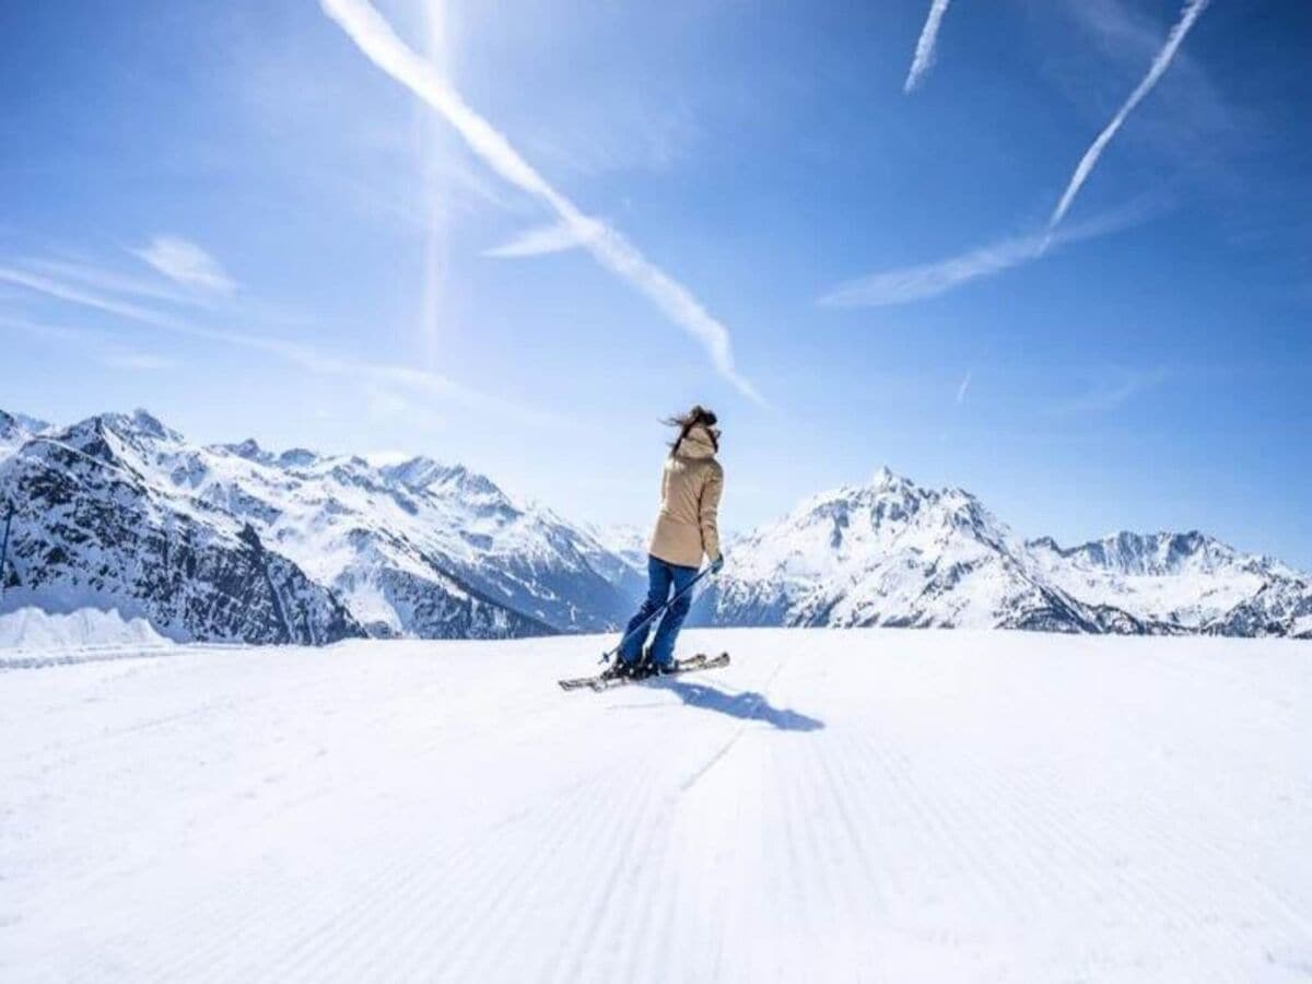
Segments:
[[[102,311],[172,335],[273,356],[298,369],[319,375],[340,377],[353,382],[375,384],[382,388],[401,387],[411,392],[453,400],[476,409],[500,411],[534,425],[558,422],[558,419],[551,415],[476,392],[438,373],[422,369],[344,358],[324,350],[321,346],[310,346],[285,338],[247,335],[244,332],[209,328],[190,321],[181,321],[142,304],[105,297],[79,285],[66,283],[12,266],[0,266],[0,283],[12,283],[56,300]]]

